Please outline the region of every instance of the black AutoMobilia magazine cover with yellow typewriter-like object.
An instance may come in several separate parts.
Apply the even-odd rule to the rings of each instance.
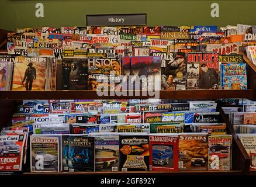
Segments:
[[[119,136],[120,171],[149,171],[148,136]]]

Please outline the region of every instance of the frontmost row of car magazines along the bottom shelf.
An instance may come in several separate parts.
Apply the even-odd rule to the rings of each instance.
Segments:
[[[11,129],[1,131],[1,171],[20,171],[27,154],[31,172],[231,169],[229,134],[33,134],[28,152],[27,127]]]

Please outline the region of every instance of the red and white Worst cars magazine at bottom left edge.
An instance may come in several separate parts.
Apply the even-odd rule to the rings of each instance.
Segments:
[[[22,169],[24,135],[0,136],[0,171],[20,171]]]

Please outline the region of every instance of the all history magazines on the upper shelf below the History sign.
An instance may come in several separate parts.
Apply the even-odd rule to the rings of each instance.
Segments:
[[[1,90],[247,89],[255,27],[26,28],[8,33]],[[250,56],[251,54],[251,56]]]

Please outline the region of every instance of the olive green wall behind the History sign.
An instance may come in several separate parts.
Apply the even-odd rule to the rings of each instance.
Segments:
[[[36,3],[44,4],[44,18],[36,18]],[[210,16],[217,2],[220,17]],[[0,28],[85,26],[87,14],[147,13],[147,25],[256,25],[256,1],[102,1],[1,0]]]

